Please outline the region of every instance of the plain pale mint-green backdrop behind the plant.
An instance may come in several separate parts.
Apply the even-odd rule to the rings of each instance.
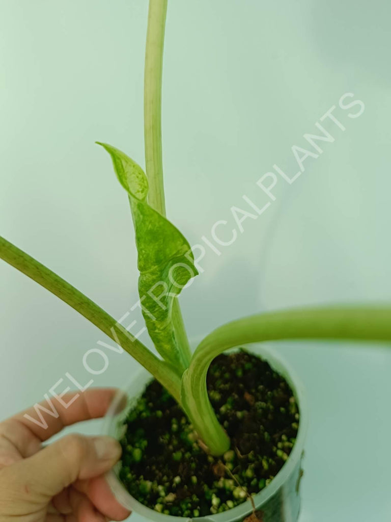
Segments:
[[[2,234],[119,318],[137,300],[136,250],[126,195],[94,141],[144,164],[147,2],[0,4]],[[336,110],[346,131],[329,125],[335,142],[293,185],[280,181],[273,206],[243,222],[221,256],[205,256],[181,298],[191,337],[263,310],[389,299],[390,14],[387,0],[170,0],[166,201],[191,244],[217,220],[232,224],[243,194],[260,204],[256,181],[274,163],[296,172],[291,146],[305,146],[345,92],[365,103],[357,119]],[[65,372],[86,382],[83,354],[107,339],[15,269],[0,270],[6,417]],[[276,350],[311,408],[300,522],[388,520],[391,353],[311,342]],[[94,384],[123,386],[136,371],[126,354],[109,354]]]

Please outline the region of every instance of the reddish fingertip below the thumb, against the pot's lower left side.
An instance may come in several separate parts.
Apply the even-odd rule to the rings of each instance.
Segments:
[[[74,488],[88,496],[93,505],[110,520],[125,520],[131,512],[115,499],[104,476],[77,481]]]

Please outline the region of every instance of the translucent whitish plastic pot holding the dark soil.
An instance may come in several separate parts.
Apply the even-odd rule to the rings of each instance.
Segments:
[[[263,522],[296,522],[300,511],[299,485],[302,475],[301,459],[303,456],[304,438],[307,431],[308,408],[303,386],[289,365],[271,348],[263,344],[246,345],[246,349],[266,360],[271,367],[282,375],[292,388],[299,405],[300,420],[296,443],[292,448],[288,460],[277,473],[276,477],[260,493],[253,496],[256,509],[263,512]],[[132,379],[129,386],[117,394],[110,406],[104,423],[104,433],[118,440],[124,434],[123,421],[138,397],[143,393],[146,384],[151,380],[151,375],[145,370]],[[128,408],[118,411],[124,397],[128,399]],[[154,522],[239,522],[252,512],[249,501],[243,502],[224,513],[207,515],[197,518],[175,517],[158,513],[144,506],[134,499],[118,478],[120,462],[107,474],[107,481],[118,502],[127,509],[131,509]]]

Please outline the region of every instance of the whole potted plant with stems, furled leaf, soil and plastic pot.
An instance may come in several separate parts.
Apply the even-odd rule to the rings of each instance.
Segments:
[[[145,173],[100,143],[127,192],[138,250],[139,304],[160,358],[68,282],[0,238],[1,257],[57,295],[145,368],[114,401],[107,432],[120,438],[108,480],[118,499],[158,522],[297,520],[307,423],[297,377],[254,343],[391,339],[391,307],[345,306],[256,314],[214,330],[191,351],[177,297],[197,276],[192,249],[165,217],[161,82],[167,0],[150,0],[145,57]],[[251,345],[242,350],[243,345]],[[234,351],[227,350],[234,349]]]

